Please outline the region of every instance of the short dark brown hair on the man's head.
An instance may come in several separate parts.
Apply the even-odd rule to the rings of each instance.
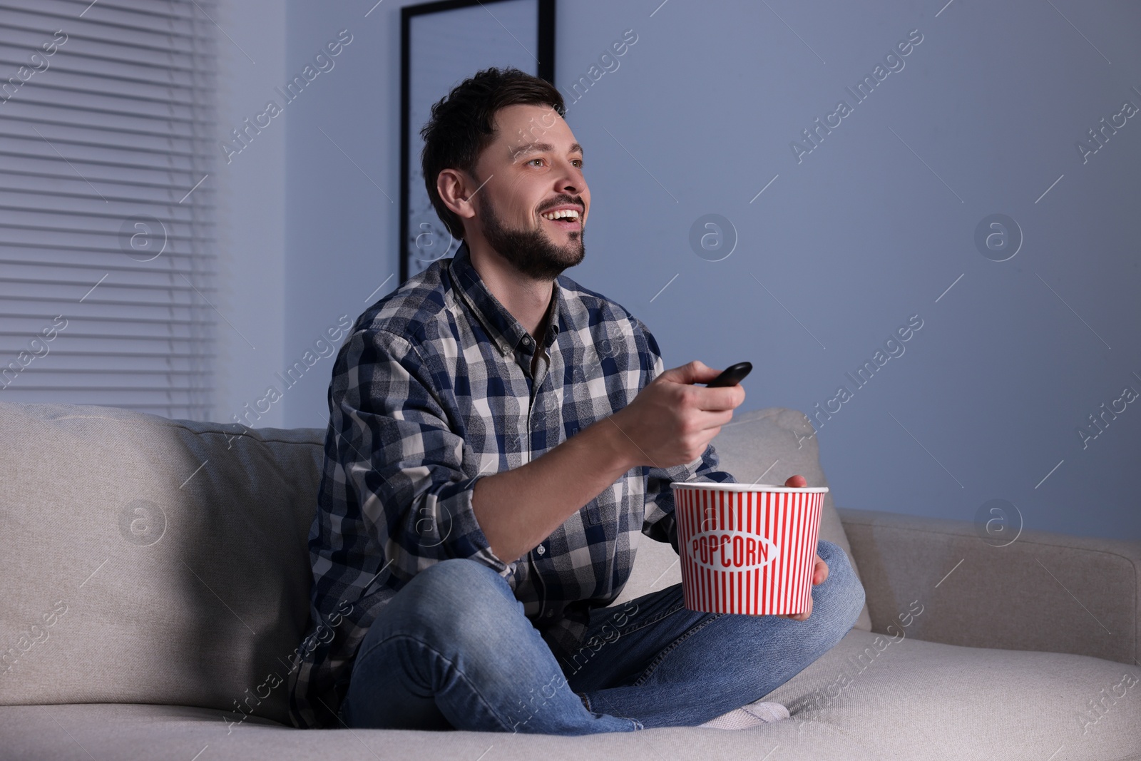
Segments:
[[[495,139],[495,113],[517,104],[551,106],[559,116],[566,115],[563,94],[547,80],[513,66],[503,70],[492,66],[463,80],[440,98],[420,130],[424,141],[420,153],[424,187],[453,237],[463,237],[463,220],[444,204],[436,192],[436,179],[444,169],[459,169],[475,177],[479,154]]]

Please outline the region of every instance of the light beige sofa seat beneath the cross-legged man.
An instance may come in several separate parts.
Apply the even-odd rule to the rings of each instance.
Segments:
[[[1131,682],[1123,678],[1141,678],[1141,669],[1079,655],[922,642],[911,639],[908,631],[891,637],[848,632],[833,649],[764,697],[786,705],[790,719],[736,731],[670,727],[560,737],[302,730],[254,717],[232,724],[220,712],[205,709],[106,704],[0,707],[0,726],[6,728],[3,752],[10,758],[51,761],[192,759],[199,753],[203,761],[1138,759],[1141,685],[1126,687]],[[1097,712],[1092,704],[1099,706]]]

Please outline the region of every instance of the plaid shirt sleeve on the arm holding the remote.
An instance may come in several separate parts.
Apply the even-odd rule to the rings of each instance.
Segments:
[[[478,560],[509,578],[516,564],[492,551],[471,509],[482,476],[437,397],[448,391],[438,388],[446,379],[432,378],[418,348],[390,331],[358,331],[347,342],[347,382],[330,390],[337,458],[347,502],[359,508],[396,577],[387,585],[399,589],[448,558]]]

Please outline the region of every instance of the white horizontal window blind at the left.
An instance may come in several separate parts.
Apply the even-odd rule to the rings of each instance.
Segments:
[[[0,402],[211,418],[211,19],[0,0]]]

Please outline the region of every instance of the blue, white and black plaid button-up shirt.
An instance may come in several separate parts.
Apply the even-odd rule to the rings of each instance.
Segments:
[[[548,315],[532,377],[536,341],[487,290],[463,243],[357,318],[329,387],[310,618],[290,663],[296,726],[339,726],[369,626],[434,562],[494,568],[566,657],[591,608],[622,592],[641,534],[677,551],[670,481],[735,481],[712,446],[685,465],[632,468],[523,557],[496,557],[471,510],[476,481],[617,412],[664,370],[646,325],[565,275]]]

